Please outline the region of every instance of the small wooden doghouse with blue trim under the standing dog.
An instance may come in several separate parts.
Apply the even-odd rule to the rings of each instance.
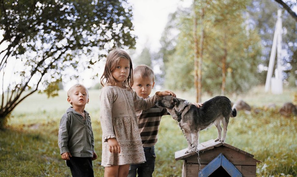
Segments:
[[[183,160],[182,177],[199,176],[256,176],[257,162],[254,155],[213,139],[198,145],[201,159],[199,172],[198,154],[185,154],[186,149],[175,152],[175,160]],[[241,174],[241,175],[240,175]]]

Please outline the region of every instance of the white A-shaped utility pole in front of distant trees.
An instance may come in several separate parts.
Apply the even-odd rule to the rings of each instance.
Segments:
[[[283,78],[282,78],[282,66],[281,66],[281,51],[282,51],[282,19],[281,19],[281,9],[277,10],[277,21],[275,25],[275,31],[273,36],[272,49],[269,59],[268,72],[265,83],[265,92],[271,91],[275,94],[280,94],[283,92]],[[275,69],[275,78],[272,77],[273,66],[275,61],[277,51],[277,65]]]

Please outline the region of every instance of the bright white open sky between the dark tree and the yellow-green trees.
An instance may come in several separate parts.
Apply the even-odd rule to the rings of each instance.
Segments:
[[[128,0],[133,8],[134,34],[137,52],[149,47],[153,52],[160,49],[160,38],[168,15],[175,12],[177,7],[189,7],[192,0]]]

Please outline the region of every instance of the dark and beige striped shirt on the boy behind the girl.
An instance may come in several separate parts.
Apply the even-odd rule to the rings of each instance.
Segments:
[[[170,114],[165,108],[157,106],[153,106],[148,110],[136,110],[143,147],[151,147],[157,143],[159,125],[163,115]]]

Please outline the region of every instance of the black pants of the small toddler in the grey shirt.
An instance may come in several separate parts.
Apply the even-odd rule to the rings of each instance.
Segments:
[[[69,161],[66,161],[68,167],[70,167],[73,177],[93,177],[93,165],[91,157],[70,157]]]

